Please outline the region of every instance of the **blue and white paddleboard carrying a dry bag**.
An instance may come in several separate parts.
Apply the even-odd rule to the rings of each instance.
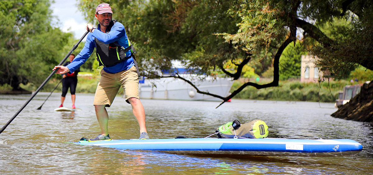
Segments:
[[[360,143],[351,139],[182,138],[79,141],[75,144],[178,154],[242,154],[251,156],[349,156],[355,155],[363,149]]]

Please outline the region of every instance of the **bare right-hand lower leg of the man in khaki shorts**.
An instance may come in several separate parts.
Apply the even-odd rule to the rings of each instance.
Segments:
[[[145,126],[145,110],[144,106],[142,106],[140,99],[131,97],[128,99],[128,101],[131,103],[132,106],[132,112],[134,113],[134,116],[139,123],[140,126],[140,133],[146,132],[146,126]]]

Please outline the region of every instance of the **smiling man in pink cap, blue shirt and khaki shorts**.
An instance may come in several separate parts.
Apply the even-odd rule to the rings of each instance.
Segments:
[[[69,65],[55,66],[53,70],[59,68],[57,74],[75,71],[87,61],[96,48],[97,61],[100,65],[104,65],[93,102],[101,134],[88,141],[110,140],[107,129],[109,116],[105,107],[110,107],[120,86],[125,93],[126,102],[131,104],[134,116],[140,125],[139,139],[149,139],[145,127],[145,110],[140,102],[138,91],[139,73],[134,58],[136,52],[128,40],[123,24],[112,20],[112,13],[109,4],[99,4],[96,7],[95,18],[100,24],[97,28],[92,24],[87,25],[90,33],[87,35],[84,48]]]

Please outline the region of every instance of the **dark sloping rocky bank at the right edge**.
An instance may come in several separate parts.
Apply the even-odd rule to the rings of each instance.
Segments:
[[[360,93],[350,102],[340,106],[331,115],[335,118],[354,120],[359,122],[373,122],[373,81],[361,86]]]

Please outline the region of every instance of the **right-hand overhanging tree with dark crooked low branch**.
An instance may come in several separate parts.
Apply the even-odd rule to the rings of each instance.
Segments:
[[[303,31],[304,40],[308,41],[303,43],[308,52],[322,58],[317,62],[317,66],[322,67],[323,70],[328,68],[332,73],[337,73],[339,68],[351,68],[355,64],[372,68],[369,67],[373,62],[369,59],[371,56],[369,50],[372,50],[371,2],[354,0],[326,2],[288,0],[286,3],[280,0],[250,2],[237,0],[234,2],[236,6],[241,7],[241,10],[231,10],[231,13],[242,16],[242,22],[238,24],[240,29],[237,33],[223,34],[226,41],[241,46],[237,47],[239,50],[247,52],[250,49],[250,52],[254,53],[250,59],[255,59],[254,56],[260,55],[263,50],[267,51],[266,53],[273,55],[274,67],[273,82],[266,85],[247,82],[241,88],[248,85],[258,89],[278,86],[280,56],[284,49],[297,39],[297,28]],[[332,22],[336,18],[349,21],[351,25],[348,26],[349,28],[346,27],[347,25],[337,25],[336,30],[329,33],[320,29],[324,24],[333,25]],[[349,22],[344,23],[349,24]],[[367,39],[364,39],[365,37]],[[358,42],[359,40],[364,42]],[[359,46],[364,48],[363,55],[356,53],[359,52]],[[235,92],[232,93],[234,94]]]

